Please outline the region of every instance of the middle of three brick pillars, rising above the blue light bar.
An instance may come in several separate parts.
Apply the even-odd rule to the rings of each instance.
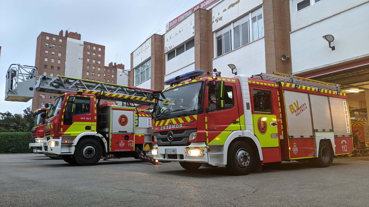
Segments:
[[[211,10],[195,11],[195,70],[213,70],[213,31]]]

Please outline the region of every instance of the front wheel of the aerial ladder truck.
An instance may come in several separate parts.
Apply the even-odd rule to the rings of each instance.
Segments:
[[[96,165],[102,155],[103,147],[99,141],[92,138],[79,141],[74,151],[74,159],[84,166]]]

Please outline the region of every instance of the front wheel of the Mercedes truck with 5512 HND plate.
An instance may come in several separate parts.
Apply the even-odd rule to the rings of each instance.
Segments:
[[[247,175],[254,166],[254,153],[243,141],[231,143],[227,154],[227,170],[234,175]]]

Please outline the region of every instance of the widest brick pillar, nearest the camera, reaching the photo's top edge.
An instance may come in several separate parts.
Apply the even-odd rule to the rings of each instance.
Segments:
[[[290,43],[290,8],[289,1],[264,0],[264,36],[266,73],[274,71],[292,73]],[[291,58],[283,61],[281,56]]]

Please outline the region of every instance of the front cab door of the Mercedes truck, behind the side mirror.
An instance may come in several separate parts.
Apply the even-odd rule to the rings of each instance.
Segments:
[[[208,108],[208,112],[205,113],[208,145],[224,145],[232,131],[241,130],[235,84],[225,82],[224,90],[224,107],[216,106],[215,83],[207,84],[204,105]]]

